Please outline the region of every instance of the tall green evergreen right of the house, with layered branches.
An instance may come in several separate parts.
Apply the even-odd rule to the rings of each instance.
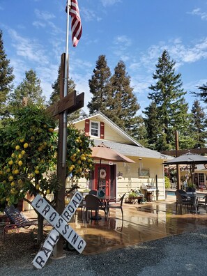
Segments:
[[[162,141],[156,146],[158,151],[175,148],[175,131],[182,135],[189,123],[188,105],[184,98],[186,92],[182,88],[181,74],[175,72],[175,64],[167,50],[164,50],[153,73],[156,82],[149,87],[152,92],[148,93],[148,99],[157,105],[161,128]]]

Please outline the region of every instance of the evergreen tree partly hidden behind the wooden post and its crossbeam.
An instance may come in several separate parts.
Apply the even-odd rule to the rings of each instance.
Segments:
[[[52,84],[52,93],[49,97],[49,105],[53,105],[54,103],[60,100],[60,75],[61,75],[61,66],[59,66],[58,77],[54,84]],[[75,91],[75,82],[72,79],[68,80],[68,93]],[[72,114],[68,114],[68,120],[72,121],[80,116],[80,111],[76,110],[72,112]]]

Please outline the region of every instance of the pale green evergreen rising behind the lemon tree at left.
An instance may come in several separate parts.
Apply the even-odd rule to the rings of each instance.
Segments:
[[[26,98],[27,105],[38,105],[39,107],[45,105],[45,96],[40,86],[40,79],[38,79],[36,72],[32,69],[25,72],[25,79],[13,93],[10,93],[9,106],[12,114],[24,105],[24,98]]]

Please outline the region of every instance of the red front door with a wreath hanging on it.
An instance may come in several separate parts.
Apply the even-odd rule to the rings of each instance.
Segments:
[[[103,190],[107,196],[110,194],[109,167],[110,166],[108,164],[95,164],[95,190]]]

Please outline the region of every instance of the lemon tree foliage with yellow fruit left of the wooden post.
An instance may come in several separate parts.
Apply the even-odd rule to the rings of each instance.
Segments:
[[[31,195],[54,191],[47,171],[56,169],[57,135],[55,121],[45,109],[19,109],[5,128],[0,129],[0,204],[17,204]]]

